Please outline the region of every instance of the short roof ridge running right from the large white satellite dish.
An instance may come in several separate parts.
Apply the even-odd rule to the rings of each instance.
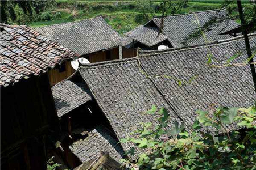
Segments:
[[[114,59],[114,60],[110,60],[110,61],[101,61],[101,62],[94,62],[94,63],[87,63],[87,64],[80,63],[79,68],[100,67],[100,66],[103,67],[103,66],[106,66],[106,65],[117,65],[117,64],[127,62],[127,61],[138,61],[138,58],[137,57],[131,57],[131,58]]]

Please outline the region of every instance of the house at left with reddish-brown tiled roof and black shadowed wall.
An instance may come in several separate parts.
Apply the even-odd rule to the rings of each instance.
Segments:
[[[78,54],[24,25],[0,24],[1,169],[47,169],[60,132],[48,70]]]

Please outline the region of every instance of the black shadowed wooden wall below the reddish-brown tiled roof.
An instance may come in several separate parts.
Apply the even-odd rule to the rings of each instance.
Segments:
[[[46,169],[43,136],[60,132],[47,73],[1,87],[0,101],[1,168]]]

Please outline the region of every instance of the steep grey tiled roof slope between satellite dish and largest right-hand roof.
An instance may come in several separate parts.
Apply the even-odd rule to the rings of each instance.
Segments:
[[[142,114],[152,105],[168,110],[170,126],[174,121],[180,122],[154,82],[142,71],[136,58],[91,63],[80,68],[82,77],[118,139],[130,136],[131,131],[138,129],[140,122],[158,125],[156,117],[159,115]],[[133,147],[127,143],[122,146],[125,151]]]

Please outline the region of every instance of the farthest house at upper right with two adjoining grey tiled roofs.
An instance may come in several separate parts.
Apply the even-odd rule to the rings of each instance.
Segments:
[[[224,19],[218,24],[210,25],[207,29],[204,29],[204,25],[209,25],[210,20],[220,20],[227,15],[225,9],[220,9],[165,16],[163,25],[161,17],[154,17],[146,24],[126,32],[125,35],[133,40],[134,45],[131,48],[139,47],[146,50],[158,49],[159,45],[181,48],[205,44],[206,42],[216,42],[234,37],[232,34],[224,35],[222,32],[235,28],[239,24],[234,20],[228,22]],[[204,32],[205,36],[192,36],[193,33],[200,30]]]

